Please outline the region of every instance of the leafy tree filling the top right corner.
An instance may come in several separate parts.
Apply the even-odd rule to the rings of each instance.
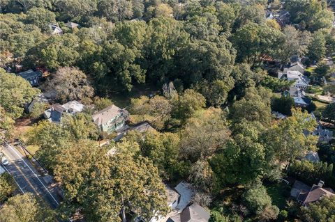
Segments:
[[[290,20],[299,24],[301,29],[318,31],[319,29],[332,27],[334,16],[327,8],[326,1],[285,1],[285,9],[290,13]]]

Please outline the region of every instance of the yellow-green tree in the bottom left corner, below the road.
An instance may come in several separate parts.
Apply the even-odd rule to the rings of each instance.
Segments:
[[[24,193],[9,198],[0,209],[1,222],[52,222],[55,220],[54,212],[42,207],[31,193]]]

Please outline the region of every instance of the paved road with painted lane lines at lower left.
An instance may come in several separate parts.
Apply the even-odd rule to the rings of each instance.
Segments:
[[[13,176],[22,193],[34,193],[55,209],[61,201],[56,188],[48,186],[29,160],[12,145],[3,145],[2,148],[2,152],[9,161],[4,168]]]

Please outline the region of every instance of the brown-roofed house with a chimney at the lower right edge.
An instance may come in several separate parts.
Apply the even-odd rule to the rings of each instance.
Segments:
[[[325,183],[320,180],[318,185],[313,184],[312,187],[308,187],[303,182],[296,180],[291,190],[291,196],[297,198],[298,203],[304,207],[308,207],[309,204],[317,202],[324,196],[330,197],[335,195],[332,189],[323,188],[324,185]]]

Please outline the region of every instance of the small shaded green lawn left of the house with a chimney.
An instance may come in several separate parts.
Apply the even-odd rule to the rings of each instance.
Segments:
[[[266,187],[267,193],[269,193],[269,196],[272,199],[272,204],[276,205],[279,209],[284,209],[286,200],[290,195],[290,187],[283,183],[271,184]]]

